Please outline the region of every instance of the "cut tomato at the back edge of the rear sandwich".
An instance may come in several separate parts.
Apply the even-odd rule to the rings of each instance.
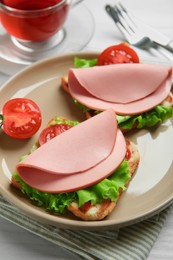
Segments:
[[[127,43],[110,46],[98,56],[99,66],[116,63],[139,63],[139,57]]]

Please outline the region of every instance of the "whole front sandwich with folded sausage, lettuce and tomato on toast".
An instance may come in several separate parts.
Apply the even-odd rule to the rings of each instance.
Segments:
[[[54,135],[52,127],[63,130]],[[137,170],[137,146],[125,139],[112,109],[82,123],[55,117],[45,129],[17,163],[12,186],[51,213],[104,219]]]

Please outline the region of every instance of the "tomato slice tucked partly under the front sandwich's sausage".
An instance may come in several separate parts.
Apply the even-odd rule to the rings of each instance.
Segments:
[[[44,143],[48,142],[55,136],[65,132],[66,130],[70,129],[72,126],[67,124],[56,124],[51,125],[43,129],[39,136],[39,144],[43,145]]]

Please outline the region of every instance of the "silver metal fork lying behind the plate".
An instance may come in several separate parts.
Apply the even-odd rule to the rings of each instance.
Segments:
[[[131,45],[142,49],[154,48],[167,59],[173,60],[173,55],[170,55],[168,51],[152,42],[149,37],[145,36],[145,33],[141,29],[142,22],[127,11],[121,3],[118,3],[114,7],[106,5],[105,9]]]

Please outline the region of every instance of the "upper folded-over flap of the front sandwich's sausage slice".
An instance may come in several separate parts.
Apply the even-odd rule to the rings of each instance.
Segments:
[[[22,173],[26,167],[35,167],[52,174],[74,174],[88,170],[112,152],[116,132],[113,111],[105,111],[45,143],[43,148],[40,147],[19,163],[17,170]]]

